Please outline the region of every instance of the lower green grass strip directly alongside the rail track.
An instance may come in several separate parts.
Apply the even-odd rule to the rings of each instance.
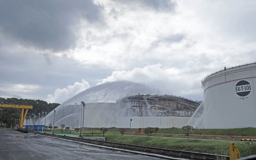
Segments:
[[[217,154],[228,156],[228,142],[219,140],[197,140],[197,139],[175,139],[163,137],[147,137],[141,135],[106,134],[106,141],[134,144],[140,146],[156,147],[183,150],[190,152]],[[240,141],[234,142],[238,148],[241,157],[256,154],[256,144],[241,145]]]

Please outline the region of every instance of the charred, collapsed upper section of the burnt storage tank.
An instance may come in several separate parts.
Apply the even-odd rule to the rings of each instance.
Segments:
[[[125,116],[192,116],[200,102],[173,95],[132,95],[116,101]]]

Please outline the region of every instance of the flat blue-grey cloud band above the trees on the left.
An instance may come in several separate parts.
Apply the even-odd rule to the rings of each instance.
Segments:
[[[2,53],[1,48],[0,53]],[[67,57],[33,52],[5,52],[0,54],[0,64],[0,97],[13,97],[13,94],[16,94],[14,97],[21,98],[22,95],[24,98],[27,94],[26,96],[44,100],[57,88],[65,88],[74,82],[80,83],[81,79],[85,79],[94,86],[102,77],[112,73],[111,68],[101,68],[96,65],[83,66]],[[13,93],[13,85],[17,84],[32,85],[31,88],[38,86],[38,88],[28,89],[28,92]],[[9,89],[11,91],[8,91]]]

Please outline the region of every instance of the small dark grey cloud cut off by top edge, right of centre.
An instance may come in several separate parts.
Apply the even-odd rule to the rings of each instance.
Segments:
[[[146,6],[149,8],[153,8],[158,12],[174,11],[177,5],[176,2],[171,0],[116,0],[116,1],[119,1],[125,4],[138,3],[144,7]]]

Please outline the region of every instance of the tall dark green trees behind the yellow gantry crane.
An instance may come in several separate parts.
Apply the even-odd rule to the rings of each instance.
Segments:
[[[18,99],[18,98],[0,98],[0,103],[5,104],[22,104],[22,105],[32,105],[33,109],[28,109],[27,116],[35,114],[39,116],[38,113],[46,112],[50,113],[54,108],[59,106],[59,103],[47,103],[43,100],[30,100],[30,99]],[[20,118],[21,109],[18,108],[1,108],[0,109],[0,124],[5,124],[5,127],[11,127],[15,124],[15,119]]]

